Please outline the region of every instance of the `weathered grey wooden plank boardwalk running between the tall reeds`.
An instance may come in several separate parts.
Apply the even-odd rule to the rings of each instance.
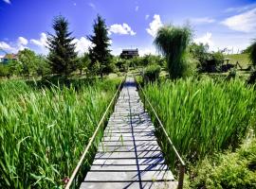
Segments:
[[[134,78],[127,77],[81,188],[176,188],[154,133]]]

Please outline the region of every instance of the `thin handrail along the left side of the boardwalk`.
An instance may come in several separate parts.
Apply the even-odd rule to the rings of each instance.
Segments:
[[[81,158],[80,158],[80,161],[79,161],[79,163],[77,164],[76,168],[74,169],[74,171],[73,171],[73,173],[72,173],[70,179],[69,179],[68,182],[66,183],[66,185],[65,185],[65,187],[64,187],[65,189],[76,188],[76,187],[77,187],[77,181],[78,181],[78,180],[77,180],[77,176],[78,176],[78,173],[79,173],[80,169],[82,168],[82,163],[84,162],[84,158],[85,158],[85,156],[87,155],[87,153],[89,152],[90,147],[93,145],[93,142],[94,142],[94,140],[95,140],[95,138],[96,138],[96,136],[97,136],[99,130],[101,129],[101,125],[102,125],[102,123],[104,122],[107,113],[110,111],[110,108],[115,104],[115,102],[116,102],[116,100],[117,100],[117,98],[118,98],[118,96],[119,96],[119,92],[120,92],[120,90],[121,90],[121,88],[122,88],[122,84],[123,84],[123,82],[125,81],[125,78],[126,78],[126,76],[125,76],[125,77],[122,79],[122,81],[120,82],[119,88],[118,88],[117,92],[114,94],[114,96],[113,96],[113,98],[111,99],[111,101],[110,101],[110,103],[109,103],[109,105],[108,105],[106,111],[103,113],[103,115],[102,115],[102,117],[101,117],[101,121],[100,121],[99,124],[97,125],[97,128],[95,129],[95,131],[94,131],[92,137],[90,138],[89,143],[85,146],[85,148],[84,148],[84,150],[83,150],[83,152],[82,152],[82,156],[81,156]]]

